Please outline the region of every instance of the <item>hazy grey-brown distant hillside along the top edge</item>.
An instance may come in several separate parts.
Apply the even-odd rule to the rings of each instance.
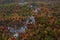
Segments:
[[[0,4],[9,4],[15,2],[50,2],[50,3],[59,3],[60,0],[0,0]]]

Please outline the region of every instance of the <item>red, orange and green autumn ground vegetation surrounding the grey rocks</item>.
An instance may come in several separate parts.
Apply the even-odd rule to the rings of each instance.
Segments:
[[[30,4],[0,5],[0,40],[60,40],[60,4],[34,3],[39,8],[37,14]],[[15,38],[8,27],[22,27],[31,15],[35,17],[35,25],[28,24],[25,33],[18,33]]]

